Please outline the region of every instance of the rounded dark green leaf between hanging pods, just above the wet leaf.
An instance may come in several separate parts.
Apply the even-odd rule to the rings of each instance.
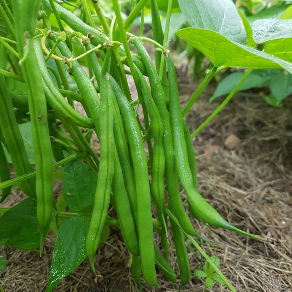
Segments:
[[[80,160],[67,162],[62,177],[63,192],[69,208],[80,211],[93,204],[97,172]]]

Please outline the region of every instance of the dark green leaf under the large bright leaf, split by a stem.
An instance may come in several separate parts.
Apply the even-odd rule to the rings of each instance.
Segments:
[[[238,91],[267,85],[271,79],[271,76],[270,74],[268,74],[268,72],[269,71],[266,70],[256,70],[251,72],[251,74],[244,80],[243,84],[239,87]],[[225,77],[218,84],[213,96],[210,98],[210,101],[213,101],[215,98],[218,98],[221,95],[229,94],[243,75],[244,72],[242,71],[234,72],[227,75],[227,77]]]

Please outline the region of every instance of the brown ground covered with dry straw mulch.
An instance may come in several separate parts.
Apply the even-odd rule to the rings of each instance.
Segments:
[[[196,84],[180,72],[180,98],[186,104]],[[222,101],[208,102],[211,84],[186,117],[193,131]],[[292,100],[282,109],[270,107],[253,92],[238,93],[225,109],[194,140],[197,154],[199,191],[206,200],[235,226],[271,239],[261,242],[218,228],[209,229],[192,220],[197,232],[210,240],[201,247],[208,255],[220,258],[220,269],[238,292],[286,292],[292,287]],[[239,145],[228,150],[224,141],[234,134]],[[55,183],[60,194],[61,183]],[[13,206],[23,195],[19,192],[6,200]],[[185,194],[182,193],[185,200]],[[48,234],[44,252],[2,247],[0,253],[8,266],[0,275],[5,292],[45,291],[55,236]],[[170,264],[176,272],[175,250],[169,237]],[[190,246],[190,243],[187,243]],[[189,248],[191,270],[201,269],[198,252]],[[111,228],[109,239],[95,256],[98,276],[86,259],[55,288],[58,292],[138,291],[127,266],[129,253],[121,234]],[[143,291],[176,291],[159,273],[160,289],[147,286]],[[204,291],[204,282],[192,277],[182,291]],[[207,291],[211,291],[208,289]],[[229,291],[215,284],[212,291]]]

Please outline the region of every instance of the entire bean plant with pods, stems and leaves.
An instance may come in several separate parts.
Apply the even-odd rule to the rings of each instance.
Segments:
[[[168,42],[171,12],[178,5],[190,27],[176,34],[212,64],[182,110]],[[146,6],[152,17],[151,38],[143,30]],[[49,292],[87,257],[95,273],[96,250],[114,225],[121,231],[140,291],[141,276],[159,288],[159,271],[180,290],[192,274],[187,238],[211,271],[199,277],[213,277],[235,291],[218,262],[195,240],[214,247],[196,232],[188,214],[206,225],[267,239],[261,236],[265,234],[234,227],[198,192],[192,138],[254,69],[292,73],[289,60],[274,56],[280,54],[276,49],[279,38],[284,35],[287,43],[291,41],[288,30],[281,34],[259,31],[256,42],[270,45],[270,51],[260,51],[253,48],[251,27],[231,0],[133,1],[127,16],[118,0],[112,0],[112,8],[114,13],[106,15],[97,0],[1,0],[1,203],[15,189],[27,196],[12,208],[0,208],[1,246],[39,248],[41,256],[44,239],[52,230],[56,241],[46,287]],[[166,11],[164,30],[159,9]],[[290,7],[285,13],[287,19]],[[131,25],[138,16],[140,33],[132,34]],[[283,20],[273,21],[283,28]],[[155,60],[145,49],[148,42]],[[222,104],[190,133],[183,117],[215,74],[230,67],[247,70]],[[133,100],[133,96],[138,98]],[[77,103],[82,111],[77,110]],[[93,147],[93,132],[98,150]],[[60,178],[63,193],[56,199],[53,181]],[[168,262],[169,234],[178,273]],[[154,236],[159,237],[159,245]],[[211,280],[208,283],[211,286]]]

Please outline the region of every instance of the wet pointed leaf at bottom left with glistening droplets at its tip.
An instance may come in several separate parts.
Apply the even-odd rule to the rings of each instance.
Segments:
[[[85,241],[90,221],[85,217],[66,220],[60,227],[53,251],[51,272],[46,292],[78,267],[86,258]]]

